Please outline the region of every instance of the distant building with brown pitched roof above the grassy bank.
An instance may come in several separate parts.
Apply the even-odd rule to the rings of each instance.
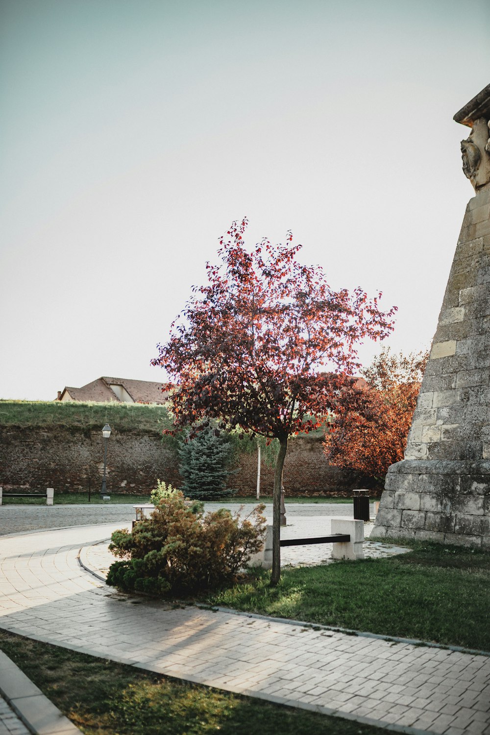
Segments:
[[[66,386],[55,401],[114,401],[118,404],[165,404],[168,384],[127,378],[98,378],[81,388]]]

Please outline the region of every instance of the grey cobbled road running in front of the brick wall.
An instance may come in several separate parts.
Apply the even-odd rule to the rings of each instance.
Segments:
[[[56,495],[54,496],[56,503]],[[206,509],[227,508],[236,511],[240,503],[206,503]],[[245,512],[252,506],[244,506]],[[272,505],[266,514],[272,518]],[[371,516],[373,506],[371,506]],[[310,515],[353,516],[352,503],[287,503],[288,523],[295,517]],[[19,531],[37,531],[40,528],[68,528],[90,526],[94,523],[118,523],[134,518],[133,503],[113,505],[2,505],[0,506],[0,536]]]

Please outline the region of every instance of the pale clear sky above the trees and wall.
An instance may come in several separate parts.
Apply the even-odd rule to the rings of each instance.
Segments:
[[[490,3],[1,0],[0,398],[165,380],[218,237],[284,241],[430,345]],[[361,349],[370,362],[381,345]]]

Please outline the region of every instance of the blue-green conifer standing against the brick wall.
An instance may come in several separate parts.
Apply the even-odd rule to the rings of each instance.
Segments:
[[[226,483],[233,448],[226,434],[215,435],[212,426],[179,446],[179,472],[184,481],[181,490],[187,498],[201,501],[231,495]]]

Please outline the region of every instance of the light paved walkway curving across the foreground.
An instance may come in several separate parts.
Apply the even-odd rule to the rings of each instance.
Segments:
[[[0,539],[0,626],[397,731],[490,734],[489,656],[120,595],[77,559],[118,525]]]

